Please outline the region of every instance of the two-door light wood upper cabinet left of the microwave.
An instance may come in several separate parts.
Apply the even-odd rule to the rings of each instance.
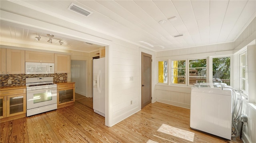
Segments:
[[[1,74],[25,74],[25,50],[1,48],[0,59]]]

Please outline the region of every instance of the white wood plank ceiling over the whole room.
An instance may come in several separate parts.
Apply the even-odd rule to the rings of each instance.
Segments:
[[[71,3],[92,15],[84,17],[68,10]],[[255,0],[4,0],[0,8],[59,26],[65,25],[58,19],[65,20],[154,51],[233,42],[256,16]],[[174,16],[176,20],[168,20]],[[159,23],[161,20],[165,22]],[[36,33],[48,32],[1,24],[1,41],[34,41]],[[183,36],[175,38],[178,34]],[[57,36],[65,41],[62,48],[95,50],[79,48],[85,41]]]

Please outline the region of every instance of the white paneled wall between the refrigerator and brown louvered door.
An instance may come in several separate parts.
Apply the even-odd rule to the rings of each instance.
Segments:
[[[112,126],[140,110],[138,84],[140,59],[139,48],[136,46],[112,44],[110,55],[109,105],[110,126]],[[133,80],[130,80],[130,77],[133,77]]]

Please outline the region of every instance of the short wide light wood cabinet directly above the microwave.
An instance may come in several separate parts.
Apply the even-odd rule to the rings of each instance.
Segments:
[[[26,51],[25,62],[54,63],[54,53]]]

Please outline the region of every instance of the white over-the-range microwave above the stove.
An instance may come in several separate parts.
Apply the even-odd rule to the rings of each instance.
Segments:
[[[26,62],[25,66],[25,74],[54,73],[54,63]]]

